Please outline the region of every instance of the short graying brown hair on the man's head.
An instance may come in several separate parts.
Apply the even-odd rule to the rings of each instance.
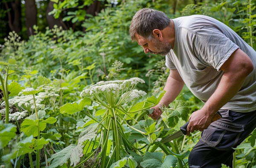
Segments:
[[[131,40],[136,40],[136,34],[145,39],[151,39],[154,29],[163,30],[169,24],[170,19],[163,12],[149,8],[140,9],[131,20]]]

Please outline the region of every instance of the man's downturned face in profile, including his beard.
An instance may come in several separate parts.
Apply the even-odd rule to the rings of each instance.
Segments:
[[[135,38],[137,39],[138,44],[143,47],[145,53],[150,52],[151,54],[165,56],[172,49],[172,45],[167,41],[159,41],[154,37],[151,40],[147,40],[140,35],[135,35]]]

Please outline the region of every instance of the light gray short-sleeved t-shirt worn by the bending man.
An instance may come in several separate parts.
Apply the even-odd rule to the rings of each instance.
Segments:
[[[228,26],[212,17],[192,15],[173,19],[175,43],[166,55],[166,67],[177,69],[189,90],[206,102],[221,81],[221,66],[240,48],[253,61],[239,92],[221,109],[256,110],[256,51]]]

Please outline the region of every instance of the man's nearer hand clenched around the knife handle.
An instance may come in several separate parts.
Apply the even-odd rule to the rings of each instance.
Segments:
[[[213,115],[214,116],[214,115]],[[209,127],[212,122],[212,115],[209,115],[205,110],[201,109],[192,113],[189,117],[189,125],[187,127],[187,135],[195,130],[203,131]]]

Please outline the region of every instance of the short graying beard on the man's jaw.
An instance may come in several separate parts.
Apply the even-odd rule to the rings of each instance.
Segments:
[[[172,44],[169,44],[167,41],[159,41],[156,38],[153,38],[152,42],[154,43],[154,46],[157,49],[156,52],[162,56],[166,56],[172,49]],[[154,54],[155,52],[150,51],[150,53]]]

